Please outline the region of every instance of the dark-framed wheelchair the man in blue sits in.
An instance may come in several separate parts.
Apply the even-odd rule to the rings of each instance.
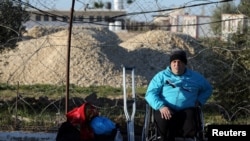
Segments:
[[[176,141],[206,141],[204,130],[204,117],[200,106],[196,107],[196,133],[192,137],[176,136]],[[154,119],[153,109],[147,104],[144,125],[142,129],[142,141],[159,141],[160,135],[157,132],[157,126]]]

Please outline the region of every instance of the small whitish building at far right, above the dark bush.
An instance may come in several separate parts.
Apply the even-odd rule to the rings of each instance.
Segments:
[[[248,26],[248,19],[243,14],[222,14],[221,30],[223,41],[229,41],[234,33],[244,33]]]

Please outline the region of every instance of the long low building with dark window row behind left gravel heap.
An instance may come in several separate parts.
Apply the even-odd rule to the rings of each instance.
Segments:
[[[38,11],[27,10],[30,18],[24,23],[26,29],[34,26],[68,26],[70,10],[61,11]],[[114,9],[111,5],[101,9],[85,8],[84,10],[74,11],[73,25],[84,27],[102,26],[112,31],[125,30],[125,15],[122,0],[114,0]]]

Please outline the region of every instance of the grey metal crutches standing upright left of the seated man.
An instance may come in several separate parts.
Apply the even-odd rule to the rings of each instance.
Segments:
[[[131,78],[132,78],[132,114],[129,116],[128,113],[128,106],[127,106],[127,92],[126,92],[126,70],[131,71]],[[127,132],[128,132],[128,141],[134,141],[134,117],[136,111],[136,99],[135,99],[135,77],[134,77],[134,67],[125,67],[123,66],[123,109],[125,113],[125,117],[127,120]]]

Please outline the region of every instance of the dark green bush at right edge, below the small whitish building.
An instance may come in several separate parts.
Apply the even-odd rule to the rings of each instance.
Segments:
[[[250,113],[250,49],[240,46],[237,49],[216,51],[219,55],[216,59],[226,65],[221,62],[216,64],[220,74],[217,75],[213,95],[216,103],[224,107],[223,113],[227,113],[224,118],[230,122],[243,116],[249,117]]]

